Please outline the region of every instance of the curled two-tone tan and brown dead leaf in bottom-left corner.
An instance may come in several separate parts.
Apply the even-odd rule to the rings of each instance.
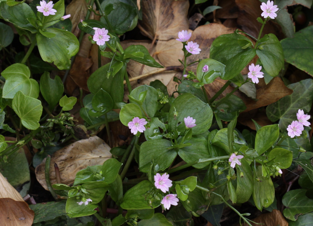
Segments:
[[[1,173],[0,213],[1,226],[31,226],[35,215],[18,191]]]

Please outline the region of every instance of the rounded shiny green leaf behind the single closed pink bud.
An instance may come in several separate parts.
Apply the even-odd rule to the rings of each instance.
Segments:
[[[202,71],[205,65],[209,67],[207,72]],[[197,78],[204,84],[212,83],[217,77],[223,76],[224,74],[225,65],[210,58],[200,61],[197,67]]]

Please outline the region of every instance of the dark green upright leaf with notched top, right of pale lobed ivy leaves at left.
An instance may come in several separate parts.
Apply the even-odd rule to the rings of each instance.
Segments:
[[[53,109],[61,99],[64,86],[59,76],[54,79],[50,78],[49,72],[44,72],[40,77],[40,91],[44,99],[48,102],[50,109]]]

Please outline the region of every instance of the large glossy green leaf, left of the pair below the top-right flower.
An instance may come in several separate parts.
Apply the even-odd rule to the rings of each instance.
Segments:
[[[213,41],[210,58],[226,65],[225,74],[221,76],[222,79],[232,79],[253,59],[256,53],[255,49],[252,47],[242,48],[249,43],[252,44],[247,37],[235,33],[220,35]]]

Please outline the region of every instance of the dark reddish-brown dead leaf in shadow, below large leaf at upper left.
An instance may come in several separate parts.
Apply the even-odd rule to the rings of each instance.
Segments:
[[[73,66],[69,71],[69,76],[82,89],[89,92],[87,80],[90,76],[89,69],[93,65],[93,61],[86,57],[76,56]]]

